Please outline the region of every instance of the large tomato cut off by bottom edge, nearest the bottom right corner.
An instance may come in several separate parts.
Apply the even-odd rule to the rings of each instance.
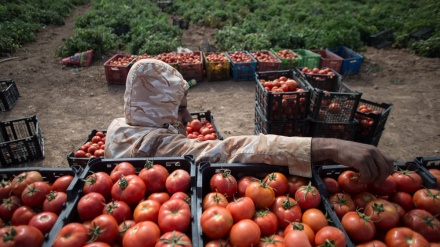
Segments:
[[[428,240],[408,227],[395,227],[389,230],[385,236],[385,244],[388,247],[429,247]]]

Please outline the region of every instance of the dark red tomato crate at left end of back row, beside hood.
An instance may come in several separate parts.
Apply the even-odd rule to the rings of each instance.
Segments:
[[[124,84],[136,55],[116,54],[104,63],[105,78],[110,84]]]

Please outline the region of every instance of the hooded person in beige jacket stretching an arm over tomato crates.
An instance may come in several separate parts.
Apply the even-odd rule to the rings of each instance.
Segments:
[[[127,76],[124,117],[107,129],[105,158],[193,155],[196,163],[288,166],[290,174],[303,177],[311,177],[312,162],[333,160],[357,169],[363,183],[384,181],[393,172],[392,160],[376,147],[339,139],[263,134],[188,139],[188,88],[172,66],[155,59],[136,62]]]

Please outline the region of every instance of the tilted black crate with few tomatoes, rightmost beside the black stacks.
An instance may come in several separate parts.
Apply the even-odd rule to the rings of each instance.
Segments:
[[[360,111],[361,108],[371,109],[371,112],[366,113]],[[390,115],[393,104],[376,103],[365,99],[359,100],[359,106],[356,110],[355,118],[359,121],[359,128],[356,136],[365,138],[377,137],[385,129],[388,116]]]

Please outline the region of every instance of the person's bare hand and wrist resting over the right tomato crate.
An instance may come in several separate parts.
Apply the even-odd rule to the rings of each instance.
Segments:
[[[360,183],[381,183],[394,172],[393,160],[377,147],[333,138],[312,138],[312,162],[330,159],[356,169]]]

